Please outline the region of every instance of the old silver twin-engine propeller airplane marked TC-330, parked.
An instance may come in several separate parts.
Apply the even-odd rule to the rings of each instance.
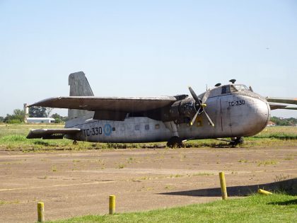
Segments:
[[[62,129],[30,130],[27,138],[86,142],[167,142],[182,147],[192,139],[220,139],[232,145],[261,132],[271,110],[295,109],[297,98],[264,98],[244,84],[216,84],[197,96],[95,97],[86,75],[69,75],[69,96],[28,105],[68,108]],[[226,138],[231,138],[230,140]]]

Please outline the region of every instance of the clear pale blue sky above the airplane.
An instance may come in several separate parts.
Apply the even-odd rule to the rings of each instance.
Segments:
[[[79,71],[95,96],[198,94],[236,79],[297,97],[297,1],[0,0],[0,30],[0,116],[69,96]]]

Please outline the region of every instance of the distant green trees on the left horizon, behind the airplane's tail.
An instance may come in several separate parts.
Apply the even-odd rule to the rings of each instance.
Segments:
[[[50,115],[52,108],[45,107],[30,107],[29,108],[29,118],[54,118],[55,123],[66,122],[68,120],[67,116],[59,115],[54,113]],[[25,111],[22,109],[13,110],[12,114],[7,114],[6,117],[0,116],[0,122],[5,122],[9,124],[18,124],[25,122]]]

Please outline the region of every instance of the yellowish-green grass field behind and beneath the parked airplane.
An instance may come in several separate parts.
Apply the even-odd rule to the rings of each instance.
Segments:
[[[32,124],[0,124],[0,149],[23,151],[42,149],[128,149],[128,148],[156,148],[165,147],[161,143],[93,143],[78,142],[72,144],[69,139],[26,139],[30,129],[36,128],[62,128],[63,125],[32,125]],[[258,135],[245,137],[245,143],[239,147],[284,146],[297,144],[297,127],[267,127]],[[228,142],[214,139],[192,140],[185,143],[185,147],[230,147]],[[184,157],[185,158],[185,157]],[[181,158],[182,159],[182,158]],[[288,158],[289,159],[289,158]],[[290,158],[291,159],[291,158]],[[133,160],[129,160],[133,163]]]

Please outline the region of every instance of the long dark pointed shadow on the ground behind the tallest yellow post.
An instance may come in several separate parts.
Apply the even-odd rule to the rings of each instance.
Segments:
[[[247,196],[252,193],[257,193],[258,189],[264,189],[269,191],[279,191],[288,193],[290,195],[297,195],[297,178],[292,178],[286,181],[279,181],[274,183],[265,183],[259,185],[240,185],[228,187],[228,196]],[[194,196],[194,197],[219,197],[221,196],[221,188],[209,188],[199,190],[186,190],[186,191],[175,191],[169,193],[160,193],[161,195],[183,195],[183,196]]]

